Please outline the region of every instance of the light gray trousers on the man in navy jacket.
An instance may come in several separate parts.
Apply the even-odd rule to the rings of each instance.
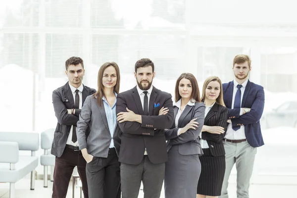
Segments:
[[[226,171],[219,198],[228,198],[228,180],[234,164],[237,170],[237,198],[248,198],[249,180],[257,148],[251,147],[247,141],[242,143],[223,141],[223,144],[226,152]]]

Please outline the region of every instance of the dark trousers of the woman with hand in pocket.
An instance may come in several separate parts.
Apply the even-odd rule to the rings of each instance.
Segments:
[[[89,198],[120,198],[120,162],[115,148],[109,148],[107,158],[93,157],[86,166]]]

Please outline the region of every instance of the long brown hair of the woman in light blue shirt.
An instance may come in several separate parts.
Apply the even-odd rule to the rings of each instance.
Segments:
[[[102,84],[103,72],[109,66],[114,67],[114,69],[116,71],[116,77],[117,77],[113,91],[118,94],[119,90],[120,90],[120,69],[119,69],[119,66],[115,62],[105,62],[104,64],[102,64],[102,66],[100,67],[100,69],[98,71],[98,82],[97,82],[98,90],[95,94],[93,94],[93,97],[97,97],[97,103],[99,106],[102,106],[102,104],[103,104],[102,98],[105,97],[104,91],[103,91],[104,86]]]

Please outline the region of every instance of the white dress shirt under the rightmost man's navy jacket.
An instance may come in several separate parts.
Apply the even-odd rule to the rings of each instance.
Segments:
[[[242,87],[240,88],[240,90],[241,90],[241,103],[243,101],[244,93],[245,93],[245,90],[246,90],[246,87],[247,87],[247,81],[248,81],[248,79],[242,84]],[[235,95],[236,95],[236,92],[238,90],[237,85],[239,84],[236,80],[233,80],[233,83],[234,83],[234,88],[233,88],[233,97],[232,97],[232,109],[234,108]],[[240,109],[240,114],[239,115],[243,114],[243,109],[242,108]],[[232,128],[232,123],[229,123],[229,125],[227,127],[225,138],[228,139],[228,140],[246,139],[245,126],[242,125],[242,126],[240,126],[239,130],[234,131],[233,128]]]

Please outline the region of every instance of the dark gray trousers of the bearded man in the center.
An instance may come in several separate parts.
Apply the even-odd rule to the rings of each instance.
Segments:
[[[121,163],[122,198],[138,198],[141,181],[144,198],[159,198],[165,174],[165,163],[153,164],[144,155],[138,165]]]

